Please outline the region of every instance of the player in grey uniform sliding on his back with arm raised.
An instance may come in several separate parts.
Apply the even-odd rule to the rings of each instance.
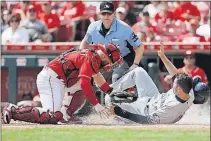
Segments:
[[[172,76],[172,89],[160,94],[147,72],[136,68],[111,85],[118,93],[113,91],[105,97],[105,104],[116,115],[141,124],[171,124],[179,121],[192,103],[203,104],[209,99],[209,87],[198,78],[193,81],[189,75],[178,73],[162,44],[158,56]],[[133,86],[137,87],[138,98],[121,93]]]

